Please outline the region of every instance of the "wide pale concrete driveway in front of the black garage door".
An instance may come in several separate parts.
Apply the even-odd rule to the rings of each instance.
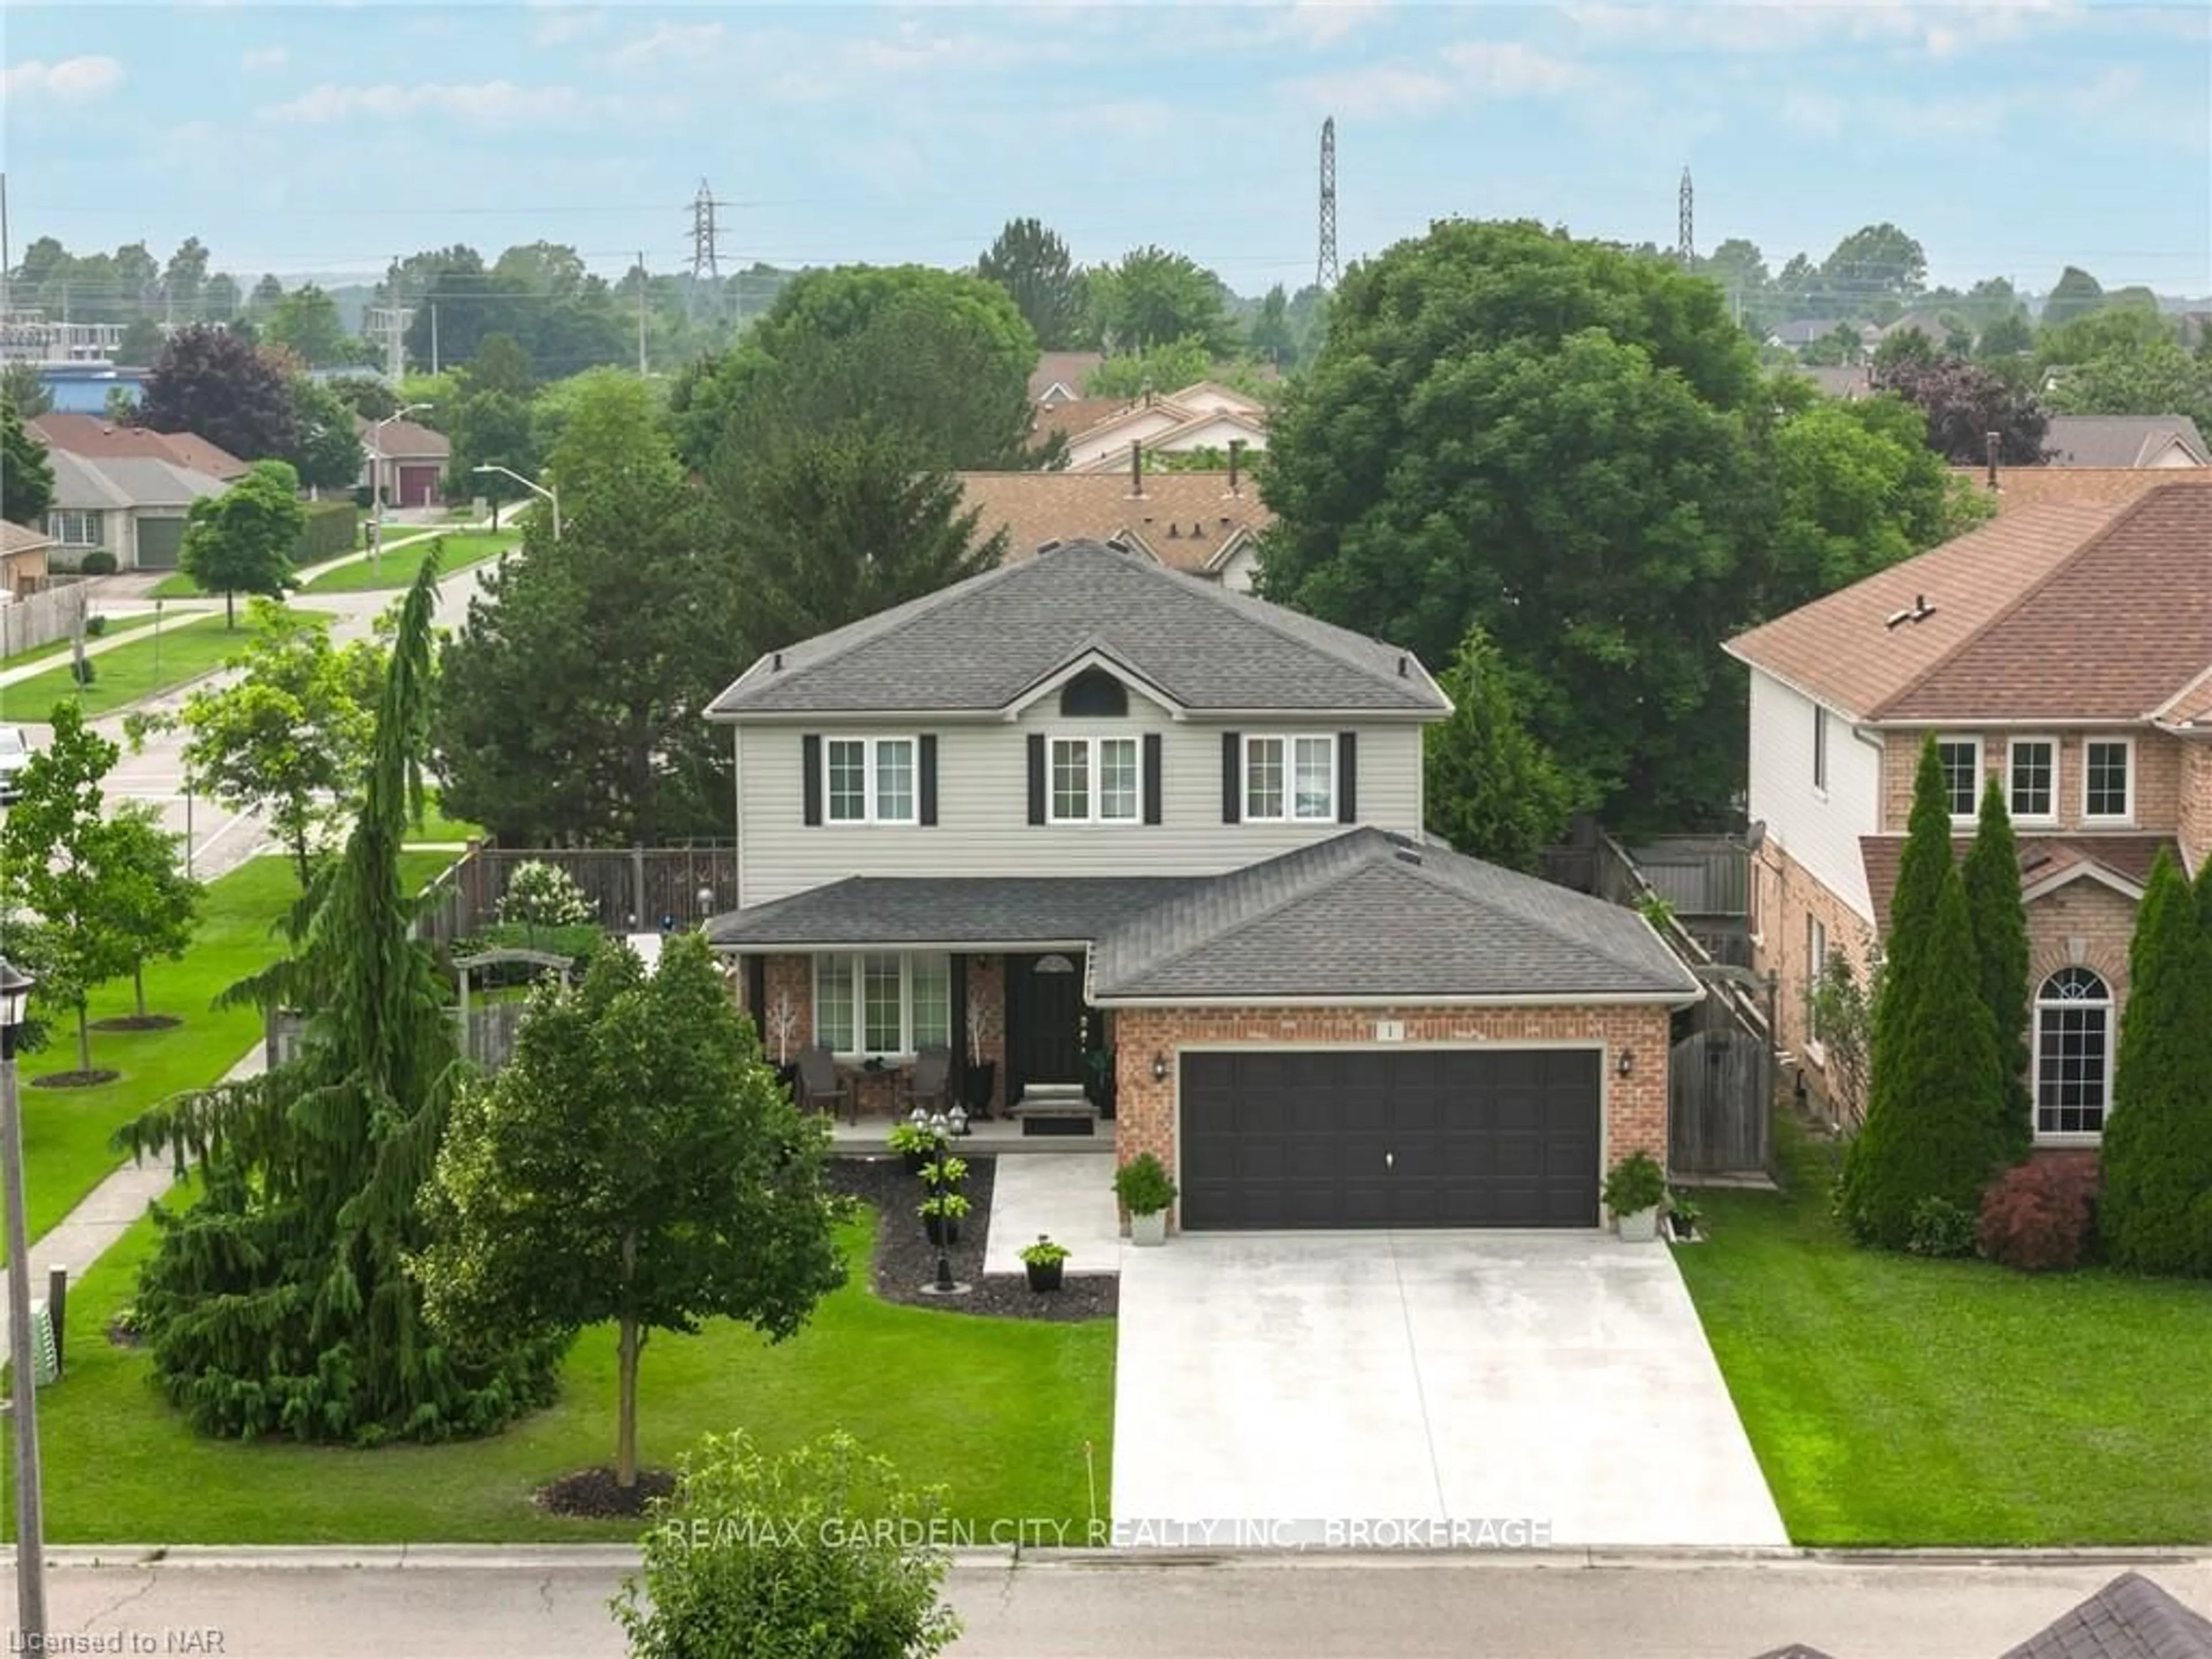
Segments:
[[[1124,1250],[1113,1520],[1137,1546],[1787,1544],[1668,1245],[1599,1232]]]

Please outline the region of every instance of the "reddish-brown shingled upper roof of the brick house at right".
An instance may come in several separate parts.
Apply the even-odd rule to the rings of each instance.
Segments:
[[[2024,507],[1728,653],[1865,721],[2139,721],[2212,666],[2212,491]]]

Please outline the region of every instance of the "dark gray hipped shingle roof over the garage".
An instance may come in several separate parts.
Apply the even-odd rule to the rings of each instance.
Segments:
[[[1099,1000],[1697,995],[1632,909],[1352,830],[1217,876],[1104,936]]]

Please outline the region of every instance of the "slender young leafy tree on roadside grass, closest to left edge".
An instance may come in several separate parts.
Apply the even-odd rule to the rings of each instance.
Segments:
[[[20,774],[20,794],[0,823],[0,907],[27,911],[29,956],[40,1000],[77,1020],[77,1071],[62,1082],[100,1084],[93,1071],[93,989],[128,973],[133,942],[102,894],[111,832],[102,779],[122,750],[84,723],[73,701],[55,703],[53,739]]]

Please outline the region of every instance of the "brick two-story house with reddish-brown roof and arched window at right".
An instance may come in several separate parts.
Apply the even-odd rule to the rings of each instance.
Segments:
[[[1960,852],[1989,776],[2017,825],[2037,1139],[2095,1146],[2143,878],[2161,847],[2212,856],[2212,491],[2020,507],[1728,650],[1752,670],[1754,933],[1783,1042],[1825,1066],[1809,989],[1887,927],[1933,732]]]

